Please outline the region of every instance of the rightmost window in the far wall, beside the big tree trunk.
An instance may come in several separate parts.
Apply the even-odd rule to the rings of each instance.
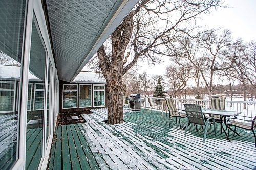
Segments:
[[[93,89],[93,106],[105,106],[105,85],[94,84]]]

